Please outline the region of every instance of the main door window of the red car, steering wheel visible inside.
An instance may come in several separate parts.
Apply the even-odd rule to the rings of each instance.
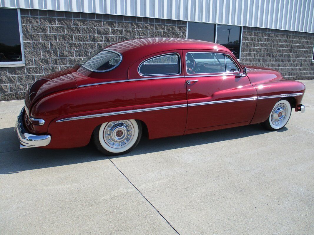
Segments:
[[[208,52],[191,52],[186,55],[187,73],[225,73],[225,55]]]

